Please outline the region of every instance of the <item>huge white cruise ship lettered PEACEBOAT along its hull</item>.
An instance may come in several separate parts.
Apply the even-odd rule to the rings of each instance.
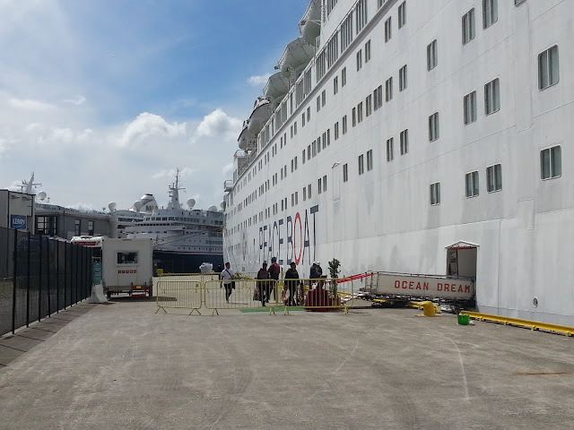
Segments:
[[[239,134],[225,259],[466,276],[480,312],[574,325],[574,2],[311,0],[299,27]]]

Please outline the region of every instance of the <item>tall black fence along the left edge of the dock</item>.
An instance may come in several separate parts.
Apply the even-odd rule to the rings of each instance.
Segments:
[[[91,258],[99,248],[0,228],[0,335],[91,295]]]

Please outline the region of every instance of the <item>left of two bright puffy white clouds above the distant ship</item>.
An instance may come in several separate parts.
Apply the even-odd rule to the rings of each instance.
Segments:
[[[170,138],[177,137],[186,133],[186,124],[168,123],[159,115],[143,112],[138,115],[134,121],[126,125],[124,133],[118,143],[120,146],[127,147],[141,142],[148,137]]]

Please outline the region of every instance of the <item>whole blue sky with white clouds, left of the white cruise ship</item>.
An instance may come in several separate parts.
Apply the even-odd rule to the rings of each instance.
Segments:
[[[0,0],[0,189],[101,211],[222,201],[244,119],[309,0]]]

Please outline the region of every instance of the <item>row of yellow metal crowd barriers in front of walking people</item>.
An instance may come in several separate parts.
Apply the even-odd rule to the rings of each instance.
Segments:
[[[289,309],[296,308],[319,312],[344,310],[348,314],[354,297],[352,280],[238,278],[228,282],[202,280],[198,274],[161,277],[156,286],[156,294],[156,313],[160,309],[167,313],[166,308],[178,308],[190,309],[189,314],[201,314],[199,310],[202,307],[211,309],[212,314],[219,314],[219,309],[253,309],[264,306],[269,308],[269,314],[274,314],[278,309],[289,314]],[[345,300],[348,297],[350,300]]]

